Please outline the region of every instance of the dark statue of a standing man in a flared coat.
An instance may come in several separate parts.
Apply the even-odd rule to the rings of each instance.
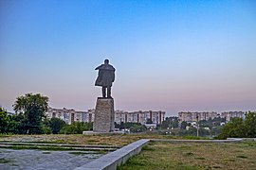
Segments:
[[[104,63],[97,67],[95,70],[99,70],[98,77],[95,81],[95,86],[102,87],[102,97],[111,98],[111,86],[115,81],[116,69],[109,64],[109,60],[105,59]],[[106,95],[107,90],[107,95]]]

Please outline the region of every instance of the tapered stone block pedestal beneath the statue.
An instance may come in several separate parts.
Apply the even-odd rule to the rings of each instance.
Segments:
[[[115,130],[114,99],[97,99],[95,119],[93,124],[94,132],[112,132]]]

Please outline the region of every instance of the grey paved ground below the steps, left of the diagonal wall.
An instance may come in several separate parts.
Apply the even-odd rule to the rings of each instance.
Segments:
[[[73,154],[71,154],[73,152]],[[81,154],[82,153],[82,154]],[[0,170],[69,170],[100,158],[93,151],[42,151],[0,148]]]

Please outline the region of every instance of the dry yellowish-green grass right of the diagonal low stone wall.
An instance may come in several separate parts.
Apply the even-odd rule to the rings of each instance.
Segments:
[[[256,143],[151,143],[119,169],[255,169]]]

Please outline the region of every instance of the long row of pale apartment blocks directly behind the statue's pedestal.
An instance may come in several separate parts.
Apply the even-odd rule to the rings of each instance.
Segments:
[[[53,109],[49,108],[46,112],[47,118],[60,118],[64,120],[66,124],[72,124],[73,122],[93,122],[95,116],[95,110],[76,111],[67,109]],[[120,124],[121,122],[127,123],[140,123],[145,125],[146,123],[161,124],[165,120],[165,111],[124,111],[115,110],[115,122]]]

